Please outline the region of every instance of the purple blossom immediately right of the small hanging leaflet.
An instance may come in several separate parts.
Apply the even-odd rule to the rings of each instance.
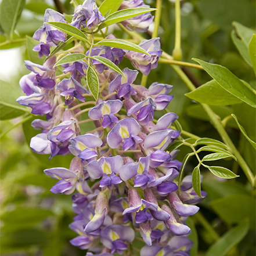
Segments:
[[[118,74],[116,78],[110,82],[109,93],[117,90],[119,98],[129,99],[131,95],[136,95],[136,91],[131,84],[135,81],[138,71],[125,67],[122,73],[125,75],[124,77]]]

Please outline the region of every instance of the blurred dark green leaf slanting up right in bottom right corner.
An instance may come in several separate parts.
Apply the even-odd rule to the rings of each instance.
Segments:
[[[248,219],[244,219],[244,221],[241,221],[239,225],[230,229],[218,241],[212,244],[205,256],[225,256],[246,236],[248,230]]]

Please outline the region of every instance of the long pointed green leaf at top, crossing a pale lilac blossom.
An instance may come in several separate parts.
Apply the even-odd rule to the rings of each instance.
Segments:
[[[123,20],[127,20],[129,18],[142,15],[143,13],[152,12],[153,10],[156,10],[156,9],[140,7],[140,8],[129,8],[124,10],[118,10],[117,12],[114,12],[111,15],[107,16],[106,20],[100,24],[99,28],[107,27],[112,24],[121,22]]]

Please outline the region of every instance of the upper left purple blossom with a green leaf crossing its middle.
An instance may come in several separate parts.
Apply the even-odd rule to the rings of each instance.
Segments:
[[[46,9],[44,15],[44,25],[35,31],[33,38],[39,41],[39,44],[33,48],[38,52],[38,56],[48,56],[50,54],[50,46],[57,46],[59,42],[66,40],[66,34],[49,24],[49,21],[65,22],[64,15],[52,9]]]

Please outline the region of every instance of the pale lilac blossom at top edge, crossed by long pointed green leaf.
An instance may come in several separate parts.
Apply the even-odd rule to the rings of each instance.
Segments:
[[[140,7],[147,7],[149,5],[145,5],[142,0],[131,0],[131,1],[122,1],[120,10],[128,9],[128,8],[140,8]],[[149,29],[150,24],[152,23],[154,16],[150,13],[143,13],[142,15],[138,15],[132,17],[130,19],[124,20],[121,23],[128,29],[128,30],[135,30],[136,32],[146,32]]]

